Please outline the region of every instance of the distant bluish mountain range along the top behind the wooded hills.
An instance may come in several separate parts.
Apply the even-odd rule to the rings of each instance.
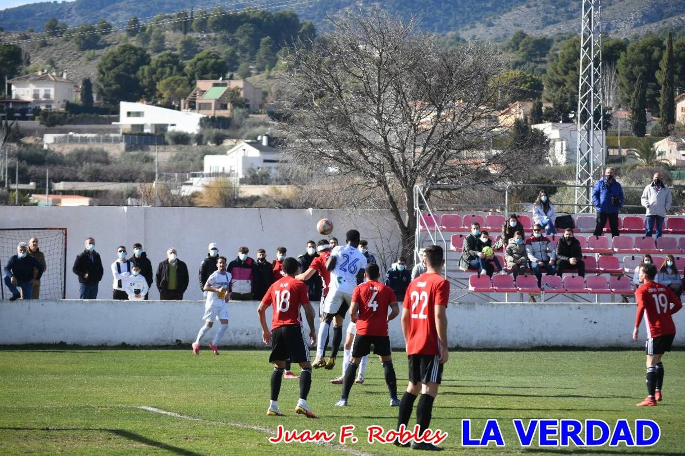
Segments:
[[[580,0],[251,0],[226,3],[218,0],[75,0],[32,3],[0,10],[0,26],[5,30],[36,31],[49,18],[69,26],[97,23],[105,19],[123,26],[132,16],[151,18],[182,9],[268,8],[294,10],[303,19],[325,27],[327,14],[343,10],[379,7],[402,18],[413,16],[423,29],[445,33],[458,31],[466,39],[501,40],[516,29],[528,34],[577,31],[580,27]],[[653,31],[659,27],[685,23],[685,0],[604,0],[603,31],[616,36]]]

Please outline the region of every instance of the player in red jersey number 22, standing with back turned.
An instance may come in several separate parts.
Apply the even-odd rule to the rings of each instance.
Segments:
[[[443,364],[449,358],[445,315],[449,282],[440,276],[440,269],[445,264],[443,247],[430,245],[423,253],[426,271],[409,284],[402,306],[401,323],[409,359],[409,385],[399,404],[397,419],[397,428],[406,428],[414,401],[421,392],[419,405],[416,406],[416,424],[421,434],[429,428],[433,401],[443,377]],[[399,440],[395,444],[401,445]],[[442,449],[428,442],[412,442],[411,446],[421,450]]]

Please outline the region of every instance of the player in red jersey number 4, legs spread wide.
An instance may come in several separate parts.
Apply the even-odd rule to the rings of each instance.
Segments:
[[[388,336],[388,321],[397,317],[399,307],[393,289],[378,282],[380,269],[375,263],[366,266],[364,276],[366,282],[358,285],[352,293],[352,304],[349,308],[351,320],[357,323],[357,333],[352,343],[352,357],[345,369],[343,378],[343,394],[338,407],[347,405],[347,398],[357,375],[357,368],[362,358],[371,352],[379,356],[385,373],[386,385],[390,392],[390,405],[397,407],[397,377],[393,367],[390,337]],[[392,308],[388,314],[388,308]],[[359,311],[359,316],[357,312]]]

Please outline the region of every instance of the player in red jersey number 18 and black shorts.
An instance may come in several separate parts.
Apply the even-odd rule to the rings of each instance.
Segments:
[[[309,302],[307,286],[295,278],[299,272],[299,262],[292,257],[283,260],[283,278],[269,287],[257,309],[262,324],[262,340],[271,344],[269,362],[273,362],[271,375],[271,405],[266,412],[268,416],[283,416],[278,408],[278,394],[286,366],[286,360],[299,363],[302,371],[299,378],[300,396],[295,412],[308,418],[316,418],[307,405],[307,395],[312,386],[312,363],[309,358],[309,347],[302,334],[300,306],[304,308],[309,325],[310,340],[314,333],[314,309]],[[273,308],[271,330],[266,325],[266,308]]]

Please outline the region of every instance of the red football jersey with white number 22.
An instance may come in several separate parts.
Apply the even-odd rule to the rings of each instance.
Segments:
[[[403,307],[409,320],[408,355],[439,355],[440,342],[435,326],[435,306],[449,302],[449,282],[440,274],[423,273],[412,280],[404,295]]]

